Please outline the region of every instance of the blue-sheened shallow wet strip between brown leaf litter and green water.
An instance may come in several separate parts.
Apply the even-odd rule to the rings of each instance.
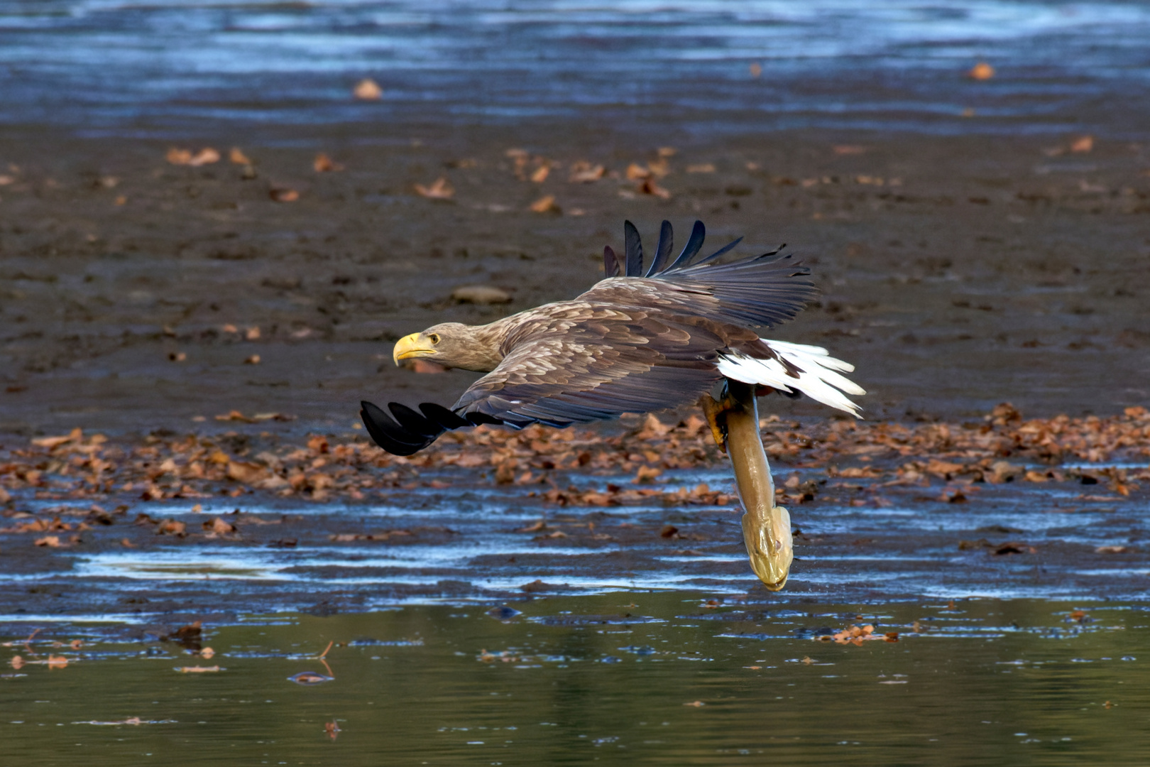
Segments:
[[[1145,603],[1150,596],[1150,517],[1140,493],[1091,493],[1099,485],[1076,482],[890,486],[782,465],[775,473],[779,482],[823,483],[816,503],[791,505],[796,561],[787,589],[770,597],[777,604]],[[561,507],[530,486],[490,485],[463,469],[453,480],[450,489],[389,491],[382,503],[204,500],[200,512],[186,500],[147,505],[154,520],[184,522],[192,532],[186,538],[122,523],[93,528],[71,549],[14,537],[0,626],[101,614],[148,622],[172,613],[228,621],[262,611],[361,612],[516,598],[530,583],[536,592],[565,595],[759,589],[737,506]],[[634,486],[586,473],[555,471],[552,480],[600,491],[610,483]],[[698,483],[733,492],[723,468],[660,477],[667,491]],[[968,499],[948,503],[944,493],[958,486]],[[46,511],[59,501],[28,503]],[[236,535],[201,532],[221,514],[235,521]]]

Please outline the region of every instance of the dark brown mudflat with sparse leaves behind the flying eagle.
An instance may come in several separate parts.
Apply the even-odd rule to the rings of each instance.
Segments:
[[[1147,400],[1150,160],[1125,141],[805,131],[660,158],[656,141],[570,130],[3,138],[0,434],[184,430],[232,409],[330,429],[361,398],[450,402],[470,376],[397,370],[392,340],[577,294],[624,217],[649,238],[665,217],[681,240],[702,218],[715,247],[788,243],[823,297],[770,335],[854,362],[867,417]],[[223,156],[174,166],[174,146]],[[251,166],[228,161],[232,146]],[[320,152],[343,169],[316,172]],[[573,183],[578,162],[606,175]],[[627,178],[652,166],[669,197]],[[450,200],[415,191],[440,177]],[[298,199],[273,199],[285,191]],[[452,301],[469,284],[512,300]]]

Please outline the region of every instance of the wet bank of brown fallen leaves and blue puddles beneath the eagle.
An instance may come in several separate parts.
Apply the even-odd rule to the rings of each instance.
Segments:
[[[705,421],[482,427],[412,458],[264,424],[146,443],[71,432],[6,448],[10,631],[561,593],[759,593]],[[780,604],[1140,599],[1150,416],[761,422],[795,562]],[[765,596],[765,592],[760,596]]]

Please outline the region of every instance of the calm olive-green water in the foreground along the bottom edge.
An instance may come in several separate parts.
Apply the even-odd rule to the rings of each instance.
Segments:
[[[1141,765],[1150,753],[1141,606],[630,592],[509,607],[252,616],[206,627],[210,659],[57,626],[0,650],[6,664],[68,659],[3,669],[5,764]],[[898,642],[820,641],[859,624]],[[197,666],[218,670],[174,670]]]

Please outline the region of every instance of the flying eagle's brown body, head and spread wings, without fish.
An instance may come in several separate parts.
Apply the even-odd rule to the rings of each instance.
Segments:
[[[722,378],[724,361],[769,362],[777,375],[797,382],[803,369],[793,360],[799,358],[776,352],[758,329],[792,319],[816,296],[805,278],[810,270],[777,251],[718,263],[739,240],[696,261],[704,231],[696,222],[683,252],[668,264],[672,228],[665,221],[656,256],[641,276],[642,244],[626,222],[626,276],[618,276],[620,259],[607,247],[607,278],[574,300],[488,325],[444,323],[407,336],[396,345],[397,363],[420,356],[488,375],[450,409],[425,404],[415,411],[393,402],[389,415],[363,402],[368,432],[384,450],[409,455],[444,430],[465,425],[566,427],[676,407],[696,401]],[[844,367],[835,369],[850,369]]]

